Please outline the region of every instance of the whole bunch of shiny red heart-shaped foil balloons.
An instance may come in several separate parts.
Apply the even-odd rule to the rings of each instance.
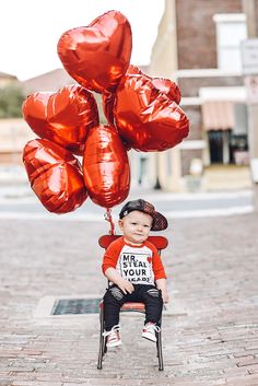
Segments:
[[[164,151],[188,134],[178,86],[131,66],[131,48],[130,24],[118,11],[64,32],[57,51],[77,84],[31,94],[23,104],[39,137],[25,145],[24,165],[54,213],[73,211],[87,196],[107,209],[122,202],[130,189],[127,151]],[[102,94],[107,125],[99,125],[92,91]]]

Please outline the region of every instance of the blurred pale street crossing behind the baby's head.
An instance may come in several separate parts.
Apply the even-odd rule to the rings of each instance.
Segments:
[[[0,218],[49,219],[102,221],[104,208],[96,206],[90,198],[71,213],[56,215],[49,213],[28,186],[2,187],[0,195]],[[197,218],[210,215],[230,215],[253,211],[251,190],[227,192],[169,194],[160,190],[132,188],[128,199],[148,197],[167,218]],[[121,206],[113,209],[117,217]]]

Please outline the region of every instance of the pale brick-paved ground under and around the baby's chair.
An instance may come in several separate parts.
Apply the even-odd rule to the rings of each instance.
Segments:
[[[103,294],[106,231],[105,221],[0,222],[0,385],[257,386],[258,217],[176,220],[164,232],[164,372],[141,316],[122,316],[122,348],[102,371],[97,314],[35,317],[44,296]]]

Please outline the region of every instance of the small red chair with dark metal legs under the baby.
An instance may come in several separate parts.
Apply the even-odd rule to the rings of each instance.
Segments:
[[[112,242],[114,242],[116,238],[120,237],[120,235],[104,235],[101,236],[98,239],[98,243],[102,248],[106,249]],[[159,254],[161,254],[162,249],[165,249],[167,247],[168,241],[164,236],[149,236],[148,241],[155,245]],[[137,302],[126,302],[121,309],[121,312],[138,312],[138,313],[145,313],[145,305],[144,303],[137,303]],[[105,330],[105,325],[104,325],[104,307],[103,307],[103,301],[99,303],[99,321],[101,321],[101,331],[99,331],[99,351],[98,351],[98,361],[97,361],[97,369],[102,369],[102,362],[103,358],[107,352],[107,337],[103,336],[103,332]],[[160,320],[160,325],[161,325]],[[156,355],[159,359],[159,370],[163,371],[164,365],[163,365],[163,355],[162,355],[162,334],[161,329],[156,331]]]

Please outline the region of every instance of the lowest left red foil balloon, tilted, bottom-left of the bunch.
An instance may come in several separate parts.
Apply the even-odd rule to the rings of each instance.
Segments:
[[[27,142],[23,162],[32,189],[54,213],[68,213],[86,199],[79,161],[68,150],[45,139]]]

